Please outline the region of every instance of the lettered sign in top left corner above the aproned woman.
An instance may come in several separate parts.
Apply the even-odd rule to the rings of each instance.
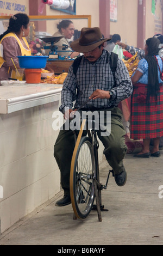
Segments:
[[[27,13],[28,1],[0,1],[0,16],[11,16],[16,13]]]

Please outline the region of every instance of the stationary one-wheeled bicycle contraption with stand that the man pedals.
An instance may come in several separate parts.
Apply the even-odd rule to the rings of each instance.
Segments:
[[[106,189],[107,187],[110,170],[108,174],[108,179],[106,181],[106,185],[103,186],[99,182],[98,142],[97,142],[96,134],[93,133],[95,134],[95,136],[93,136],[88,133],[89,137],[87,136],[82,137],[85,123],[86,123],[86,119],[83,120],[82,125],[80,127],[79,135],[76,139],[76,145],[74,147],[72,161],[71,161],[70,197],[71,197],[72,208],[74,211],[73,220],[76,220],[77,218],[80,218],[80,219],[86,218],[89,215],[91,210],[97,210],[98,221],[102,222],[101,211],[108,211],[108,210],[104,209],[104,205],[102,205],[101,190],[103,190],[103,188]],[[85,145],[86,145],[86,148],[85,148]],[[87,149],[89,150],[87,151]],[[89,157],[89,153],[90,153],[90,157]],[[79,162],[78,162],[78,159],[79,159]],[[89,159],[91,159],[91,164],[89,164],[89,161],[88,161]],[[86,161],[86,164],[84,160]],[[80,163],[82,163],[82,166],[80,166]],[[89,167],[87,169],[88,172],[85,169],[85,166]],[[92,167],[92,169],[90,168],[90,166]],[[86,188],[84,184],[89,184],[88,186],[91,187],[91,190],[90,190],[90,187]],[[80,191],[79,188],[81,187],[84,188],[84,190]],[[85,193],[84,191],[86,192],[86,194],[84,194]],[[82,197],[84,196],[83,197],[84,199],[80,199],[81,195]],[[89,199],[87,195],[89,195]],[[93,205],[93,201],[95,197],[96,197],[96,205]],[[84,205],[84,203],[86,203],[86,206],[84,206],[83,208],[81,206],[82,204]]]

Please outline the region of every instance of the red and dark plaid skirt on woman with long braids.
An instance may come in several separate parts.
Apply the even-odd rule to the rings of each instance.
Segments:
[[[163,136],[163,85],[155,101],[152,96],[146,104],[147,84],[135,84],[131,97],[130,137],[132,139]]]

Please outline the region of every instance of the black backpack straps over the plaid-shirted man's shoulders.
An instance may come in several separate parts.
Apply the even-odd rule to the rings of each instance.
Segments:
[[[80,62],[82,60],[83,56],[80,56],[76,59],[74,59],[74,62],[72,64],[73,66],[73,74],[76,75]],[[108,62],[108,58],[109,58],[109,53],[107,51],[107,58],[106,58],[106,63]],[[117,68],[117,62],[118,62],[118,54],[111,52],[111,56],[110,56],[110,69],[112,71],[112,75],[114,76],[114,84],[116,84],[115,82],[115,72],[116,72],[116,68]]]

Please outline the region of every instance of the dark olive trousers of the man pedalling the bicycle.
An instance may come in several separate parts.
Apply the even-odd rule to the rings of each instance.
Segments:
[[[97,135],[104,145],[103,153],[106,160],[114,173],[120,174],[123,158],[127,151],[124,141],[126,131],[122,124],[121,109],[115,107],[108,109],[108,111],[111,111],[111,133],[109,136],[101,136],[101,131],[98,131]],[[70,168],[74,146],[74,132],[72,130],[60,130],[54,145],[54,157],[61,172],[61,186],[66,195],[70,194]]]

